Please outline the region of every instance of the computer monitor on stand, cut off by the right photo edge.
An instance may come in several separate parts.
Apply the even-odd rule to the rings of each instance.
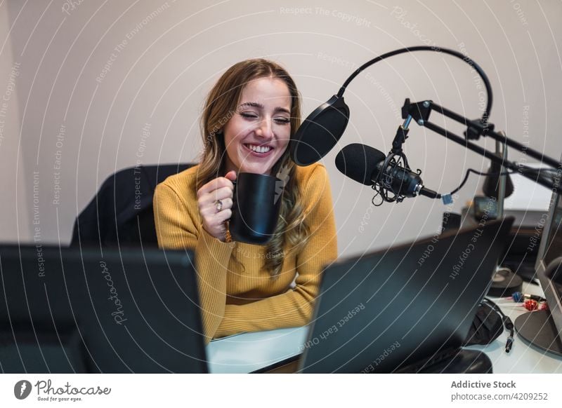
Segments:
[[[560,175],[561,173],[558,172],[558,177]],[[537,226],[537,228],[539,227]],[[525,313],[516,319],[515,328],[518,334],[530,344],[556,355],[562,355],[562,279],[560,275],[556,279],[551,279],[547,269],[561,256],[562,199],[559,189],[554,189],[535,264],[537,277],[544,297],[547,299],[549,311]]]

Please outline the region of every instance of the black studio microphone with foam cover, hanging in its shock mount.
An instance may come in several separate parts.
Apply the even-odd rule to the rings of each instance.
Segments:
[[[400,203],[406,197],[418,195],[440,198],[436,191],[424,187],[419,172],[412,172],[407,163],[404,165],[393,156],[389,157],[390,160],[381,151],[365,144],[348,144],[337,154],[336,168],[356,182],[372,186],[383,201],[389,203]]]

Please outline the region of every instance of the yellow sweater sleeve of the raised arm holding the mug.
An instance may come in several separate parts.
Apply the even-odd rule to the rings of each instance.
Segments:
[[[198,215],[190,214],[185,202],[167,184],[157,185],[153,202],[158,246],[195,250],[203,329],[209,341],[225,313],[226,273],[234,245],[207,233]]]

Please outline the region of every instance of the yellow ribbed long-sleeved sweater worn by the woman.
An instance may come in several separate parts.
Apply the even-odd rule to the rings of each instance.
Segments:
[[[322,267],[337,257],[332,194],[325,167],[316,163],[296,168],[311,236],[300,252],[285,257],[275,280],[263,268],[265,246],[223,243],[202,228],[195,184],[198,168],[189,168],[158,184],[154,208],[159,247],[195,250],[207,341],[240,332],[308,324]],[[285,254],[288,250],[286,245]]]

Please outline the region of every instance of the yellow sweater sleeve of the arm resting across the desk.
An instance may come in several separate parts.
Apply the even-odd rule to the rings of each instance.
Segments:
[[[294,289],[244,305],[226,305],[224,318],[215,337],[239,332],[279,329],[307,325],[318,295],[322,268],[337,257],[337,236],[332,193],[326,168],[316,166],[301,186],[305,222],[310,236],[296,255],[299,273]]]

